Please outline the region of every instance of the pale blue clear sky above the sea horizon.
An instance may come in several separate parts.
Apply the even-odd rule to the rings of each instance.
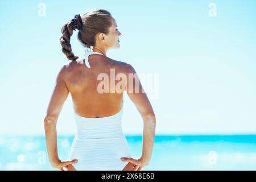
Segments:
[[[39,3],[46,16],[38,16]],[[209,3],[217,6],[210,17]],[[1,134],[42,135],[55,78],[69,60],[61,27],[86,10],[112,13],[122,36],[107,55],[137,73],[159,75],[151,100],[156,134],[251,134],[256,131],[255,1],[1,1]],[[83,48],[73,34],[73,52]],[[142,134],[143,121],[125,95],[122,127]],[[73,134],[69,95],[58,134]]]

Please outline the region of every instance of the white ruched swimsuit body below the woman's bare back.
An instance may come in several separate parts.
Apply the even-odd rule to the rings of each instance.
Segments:
[[[69,159],[77,171],[122,171],[129,163],[131,150],[122,130],[123,106],[118,113],[107,117],[86,118],[75,113],[76,135]]]

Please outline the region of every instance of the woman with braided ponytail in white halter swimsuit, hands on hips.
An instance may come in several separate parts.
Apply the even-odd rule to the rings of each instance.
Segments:
[[[56,86],[44,118],[47,151],[52,167],[60,170],[139,171],[150,162],[156,123],[152,106],[134,68],[106,56],[110,48],[119,48],[121,32],[116,27],[115,19],[108,11],[94,9],[82,17],[76,15],[61,30],[62,51],[71,63],[64,65],[57,75]],[[77,60],[78,57],[71,49],[73,30],[79,30],[78,39],[85,48],[93,47],[87,50],[82,60]],[[122,77],[123,84],[116,77],[113,80],[113,71]],[[128,79],[129,75],[133,77]],[[99,78],[102,76],[106,76],[106,80],[100,82]],[[109,82],[112,84],[109,85]],[[138,88],[141,90],[139,93],[134,91]],[[138,159],[131,158],[127,140],[122,133],[125,91],[144,122],[142,155]],[[63,161],[57,154],[56,123],[69,93],[72,96],[77,130],[70,160]]]

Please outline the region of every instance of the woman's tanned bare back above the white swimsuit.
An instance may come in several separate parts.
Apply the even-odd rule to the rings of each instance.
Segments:
[[[90,55],[89,63],[90,68],[86,67],[84,60],[72,61],[65,65],[63,77],[71,93],[76,114],[87,118],[97,118],[118,113],[122,107],[123,92],[110,93],[110,90],[115,89],[115,85],[119,82],[115,80],[115,75],[125,72],[127,64],[102,55]],[[111,74],[110,69],[112,69]],[[100,73],[108,75],[107,93],[100,93],[98,90],[98,84],[103,80],[98,78]],[[110,79],[114,80],[114,85],[110,84]]]

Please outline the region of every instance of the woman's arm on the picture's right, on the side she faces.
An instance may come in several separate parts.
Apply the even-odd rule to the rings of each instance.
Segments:
[[[140,160],[144,166],[147,166],[147,164],[150,162],[154,146],[156,117],[150,101],[142,88],[141,81],[139,81],[139,77],[135,72],[135,69],[130,64],[127,64],[126,71],[128,74],[126,85],[127,95],[129,96],[130,100],[133,101],[143,119],[143,144],[142,156]],[[129,79],[129,74],[132,74],[130,76],[134,76],[134,78]],[[136,92],[137,88],[135,88],[135,86],[138,86],[139,92]]]

